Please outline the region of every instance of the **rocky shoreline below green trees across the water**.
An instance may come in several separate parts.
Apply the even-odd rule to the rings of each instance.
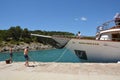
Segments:
[[[42,43],[32,42],[30,44],[20,43],[20,44],[7,44],[0,46],[0,52],[8,52],[10,47],[12,47],[13,52],[23,51],[26,47],[29,47],[29,50],[43,50],[43,49],[52,49],[51,45],[44,45]]]

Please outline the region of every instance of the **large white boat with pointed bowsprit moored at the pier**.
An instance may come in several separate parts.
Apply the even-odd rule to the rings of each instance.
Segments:
[[[32,34],[35,36],[35,34]],[[70,49],[83,62],[118,62],[120,61],[120,25],[107,21],[97,27],[96,39],[66,39],[42,36],[55,40],[59,47]]]

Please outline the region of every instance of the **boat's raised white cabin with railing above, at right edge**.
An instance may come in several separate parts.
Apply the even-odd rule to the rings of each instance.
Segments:
[[[120,41],[120,25],[112,20],[98,26],[96,40]]]

